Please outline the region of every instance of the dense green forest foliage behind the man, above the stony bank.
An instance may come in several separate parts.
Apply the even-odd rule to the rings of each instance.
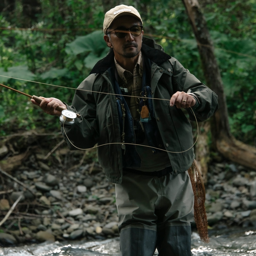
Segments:
[[[74,89],[108,52],[102,32],[104,13],[119,3],[135,6],[143,19],[144,36],[161,44],[205,82],[196,40],[180,0],[2,0],[0,83],[71,104]],[[199,3],[221,70],[231,133],[255,146],[256,1]],[[0,90],[0,136],[31,129],[59,131],[58,119],[33,106],[29,98]]]

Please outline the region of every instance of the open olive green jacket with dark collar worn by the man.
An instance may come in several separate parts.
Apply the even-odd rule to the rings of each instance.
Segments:
[[[218,97],[175,58],[164,53],[153,40],[143,38],[142,54],[143,58],[151,61],[151,73],[148,75],[151,76],[155,117],[163,141],[160,148],[168,151],[172,174],[175,175],[188,170],[195,155],[190,122],[182,109],[170,107],[170,98],[176,91],[194,95],[197,104],[192,109],[197,121],[204,121],[218,109]],[[122,149],[116,96],[111,82],[113,70],[114,54],[110,49],[79,85],[72,106],[67,106],[81,117],[76,118],[72,125],[64,124],[61,130],[71,150],[91,148],[97,144],[98,160],[109,181],[121,183]],[[191,109],[186,110],[189,119],[195,120]]]

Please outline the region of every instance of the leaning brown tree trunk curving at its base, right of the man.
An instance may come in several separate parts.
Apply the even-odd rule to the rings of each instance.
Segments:
[[[199,3],[197,0],[182,1],[195,34],[207,85],[218,95],[219,110],[211,120],[213,146],[224,157],[256,170],[256,148],[236,140],[230,133],[223,82]]]

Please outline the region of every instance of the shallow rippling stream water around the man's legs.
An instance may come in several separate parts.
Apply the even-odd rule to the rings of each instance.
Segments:
[[[230,229],[209,231],[210,242],[202,242],[197,233],[192,234],[193,256],[255,256],[256,229]],[[0,248],[5,256],[119,256],[119,239],[103,241],[45,242],[20,247]],[[157,251],[154,255],[157,255]]]

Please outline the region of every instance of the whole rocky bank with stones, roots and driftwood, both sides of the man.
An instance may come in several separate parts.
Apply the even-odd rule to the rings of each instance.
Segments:
[[[215,156],[205,187],[209,229],[256,230],[256,171]],[[60,133],[0,138],[2,247],[112,239],[119,236],[117,221],[114,185],[96,150],[70,151]]]

